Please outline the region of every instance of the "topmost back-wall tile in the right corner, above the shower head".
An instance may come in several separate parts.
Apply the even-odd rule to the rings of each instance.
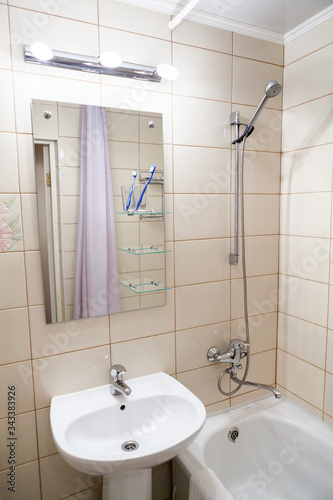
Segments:
[[[283,45],[240,33],[233,33],[233,53],[235,56],[283,65]]]

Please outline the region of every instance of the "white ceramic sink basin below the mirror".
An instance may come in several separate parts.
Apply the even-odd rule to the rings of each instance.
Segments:
[[[177,455],[199,433],[205,408],[177,380],[159,372],[126,383],[129,396],[111,395],[105,385],[52,398],[53,437],[72,467],[98,475],[150,468]],[[124,443],[138,448],[125,451]]]

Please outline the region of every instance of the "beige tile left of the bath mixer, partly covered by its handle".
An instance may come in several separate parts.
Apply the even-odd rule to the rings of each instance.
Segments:
[[[210,366],[208,349],[217,346],[221,352],[225,352],[229,349],[229,343],[229,322],[176,332],[177,371]]]

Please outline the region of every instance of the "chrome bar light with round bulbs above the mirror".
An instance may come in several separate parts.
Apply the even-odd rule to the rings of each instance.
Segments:
[[[101,54],[101,57],[93,57],[84,56],[81,54],[73,54],[71,52],[63,52],[61,50],[49,49],[51,51],[52,57],[46,59],[45,54],[44,56],[42,54],[42,57],[40,57],[40,54],[38,55],[37,52],[36,55],[36,52],[33,50],[34,45],[36,44],[24,46],[24,59],[27,63],[39,64],[41,66],[53,66],[55,68],[66,68],[76,71],[86,71],[88,73],[99,73],[101,75],[121,76],[123,78],[132,78],[135,80],[144,80],[156,83],[159,83],[162,77],[168,78],[166,76],[166,72],[163,72],[163,68],[163,74],[161,74],[158,72],[158,68],[156,68],[155,66],[145,66],[143,64],[135,64],[125,61],[121,62],[120,56],[118,56],[118,60],[115,61],[114,52]],[[113,55],[110,56],[110,54]],[[106,58],[106,61],[104,57]],[[113,61],[111,61],[112,65],[110,64],[111,58],[113,59]],[[120,64],[114,67],[113,64],[117,63]],[[161,65],[161,67],[164,66],[167,65]],[[176,78],[178,76],[178,71],[176,70],[176,68],[174,68],[173,66],[169,66],[169,68],[173,68],[174,75],[176,76],[173,76],[172,78],[169,77],[168,79]]]

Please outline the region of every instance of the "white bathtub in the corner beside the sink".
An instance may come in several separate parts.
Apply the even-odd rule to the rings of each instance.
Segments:
[[[333,500],[333,429],[286,399],[257,399],[207,417],[174,459],[175,500],[188,499],[190,476],[203,468],[234,500]]]

